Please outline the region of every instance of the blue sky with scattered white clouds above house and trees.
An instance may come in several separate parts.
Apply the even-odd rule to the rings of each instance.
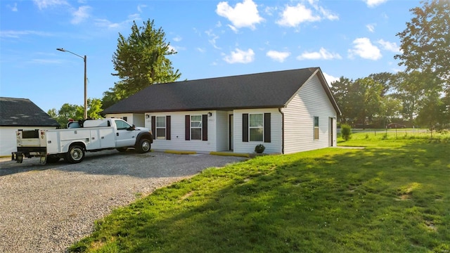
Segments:
[[[1,0],[0,96],[47,112],[84,104],[112,75],[119,34],[154,20],[176,54],[179,81],[321,67],[328,84],[399,72],[396,36],[413,0],[103,1]],[[64,48],[69,52],[57,51]],[[149,98],[151,99],[151,98]]]

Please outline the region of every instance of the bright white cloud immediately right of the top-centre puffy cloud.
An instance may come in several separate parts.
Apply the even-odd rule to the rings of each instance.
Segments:
[[[319,20],[321,20],[321,17],[314,15],[311,9],[303,4],[297,4],[297,6],[286,6],[281,14],[281,19],[277,20],[276,23],[286,27],[296,27],[302,22],[314,22]]]

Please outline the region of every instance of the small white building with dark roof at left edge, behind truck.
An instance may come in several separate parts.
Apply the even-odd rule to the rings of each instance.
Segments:
[[[17,151],[15,131],[18,129],[56,129],[55,119],[27,98],[0,97],[0,156]]]

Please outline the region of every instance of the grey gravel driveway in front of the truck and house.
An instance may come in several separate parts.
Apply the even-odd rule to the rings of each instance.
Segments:
[[[0,252],[65,252],[115,207],[207,167],[244,160],[214,155],[86,153],[79,164],[0,161]]]

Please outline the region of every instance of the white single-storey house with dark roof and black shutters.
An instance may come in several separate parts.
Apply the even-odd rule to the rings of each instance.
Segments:
[[[154,84],[103,111],[153,132],[153,150],[296,153],[336,145],[319,67]]]

